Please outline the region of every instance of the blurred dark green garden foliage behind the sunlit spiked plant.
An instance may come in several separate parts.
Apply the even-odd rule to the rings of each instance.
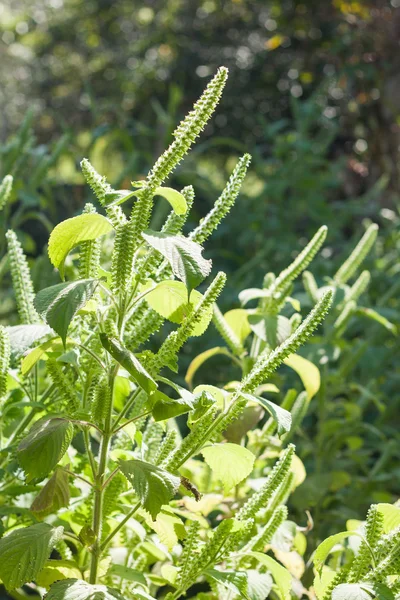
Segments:
[[[93,201],[82,157],[114,187],[130,187],[225,65],[216,116],[170,183],[194,185],[193,226],[237,158],[253,156],[236,207],[207,245],[214,269],[229,275],[221,308],[239,306],[241,289],[287,266],[327,224],[312,267],[322,284],[374,221],[380,235],[365,265],[372,284],[364,305],[398,327],[399,40],[400,0],[0,2],[0,177],[15,181],[0,227],[17,229],[36,257],[36,289],[56,282],[42,251],[55,223]],[[163,214],[160,207],[153,226]],[[14,314],[5,264],[2,320]],[[303,515],[316,499],[320,516],[329,511],[328,534],[340,527],[335,520],[399,494],[400,372],[398,339],[379,324],[355,320],[345,338],[322,341],[330,356],[321,366],[324,418],[312,406],[296,441],[310,478],[294,506]],[[186,347],[186,364],[219,343],[210,328]],[[305,350],[316,361],[318,343]],[[226,382],[227,371],[217,363],[210,378]]]

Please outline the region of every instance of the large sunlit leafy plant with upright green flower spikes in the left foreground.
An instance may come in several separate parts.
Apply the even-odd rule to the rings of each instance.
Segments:
[[[306,318],[278,316],[283,303],[293,305],[291,283],[325,228],[287,270],[267,276],[261,298],[273,318],[256,323],[268,335],[258,336],[240,381],[193,389],[174,375],[183,345],[212,319],[242,353],[216,304],[225,274],[204,293],[196,288],[212,270],[202,244],[230,211],[250,157],[188,235],[194,190],[163,185],[226,78],[219,69],[132,191],[112,189],[82,161],[96,205],[51,232],[60,283],[35,293],[18,237],[6,234],[20,324],[0,328],[0,580],[18,600],[291,597],[292,576],[268,550],[293,525],[285,504],[301,482],[289,443],[297,408],[292,397],[279,406],[265,394],[284,361],[301,370],[296,351],[331,305],[327,288]],[[159,196],[171,213],[154,231]],[[152,351],[146,342],[164,320],[176,327]],[[270,419],[260,436],[246,436],[240,425],[255,406]],[[263,435],[275,440],[274,452],[265,452]]]

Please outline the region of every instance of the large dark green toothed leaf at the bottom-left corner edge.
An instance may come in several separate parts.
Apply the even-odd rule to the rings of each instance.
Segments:
[[[36,578],[63,531],[63,527],[37,523],[0,540],[0,579],[8,590]]]

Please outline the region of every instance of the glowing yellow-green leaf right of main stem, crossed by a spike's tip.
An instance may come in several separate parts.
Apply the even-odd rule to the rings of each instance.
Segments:
[[[150,284],[152,285],[152,283]],[[143,288],[145,290],[146,288]],[[190,294],[188,300],[188,291],[181,281],[166,280],[161,281],[157,286],[146,294],[145,299],[149,306],[159,315],[168,319],[172,323],[182,323],[189,312],[202,300],[203,295],[197,290]],[[202,335],[210,324],[212,319],[212,307],[205,314],[201,321],[196,324],[192,336]]]

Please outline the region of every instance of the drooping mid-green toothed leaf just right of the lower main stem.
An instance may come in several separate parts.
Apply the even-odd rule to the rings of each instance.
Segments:
[[[120,460],[121,471],[131,483],[140,504],[153,520],[161,507],[173,498],[180,486],[180,478],[165,469],[142,460]]]

